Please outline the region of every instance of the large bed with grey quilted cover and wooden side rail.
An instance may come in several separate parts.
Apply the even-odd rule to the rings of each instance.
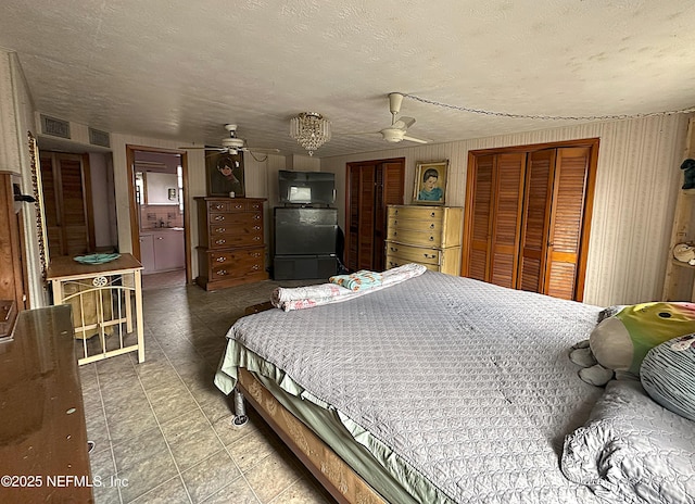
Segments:
[[[239,387],[339,502],[659,502],[639,495],[634,475],[616,483],[610,440],[589,439],[609,421],[592,412],[615,411],[568,353],[601,311],[428,270],[344,302],[239,319],[215,383]],[[621,387],[609,404],[640,416],[634,396],[646,395]],[[661,437],[677,430],[686,448],[646,487],[692,502],[692,424],[668,420]],[[654,431],[649,421],[621,439]],[[667,450],[681,449],[655,456]]]

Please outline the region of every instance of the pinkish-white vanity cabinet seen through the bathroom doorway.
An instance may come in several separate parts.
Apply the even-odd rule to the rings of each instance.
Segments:
[[[186,266],[184,230],[157,229],[140,235],[142,274],[170,272]]]

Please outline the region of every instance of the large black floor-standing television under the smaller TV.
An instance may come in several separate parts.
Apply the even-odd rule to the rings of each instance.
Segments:
[[[337,240],[337,209],[276,207],[273,277],[327,280],[338,272]]]

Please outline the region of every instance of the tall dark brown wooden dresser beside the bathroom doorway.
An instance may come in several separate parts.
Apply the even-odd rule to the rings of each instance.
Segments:
[[[195,198],[198,269],[205,290],[265,280],[263,202],[260,198]]]

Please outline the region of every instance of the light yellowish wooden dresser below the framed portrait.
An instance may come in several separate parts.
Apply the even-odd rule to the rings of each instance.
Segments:
[[[460,206],[389,205],[387,268],[418,263],[459,276],[463,217]]]

